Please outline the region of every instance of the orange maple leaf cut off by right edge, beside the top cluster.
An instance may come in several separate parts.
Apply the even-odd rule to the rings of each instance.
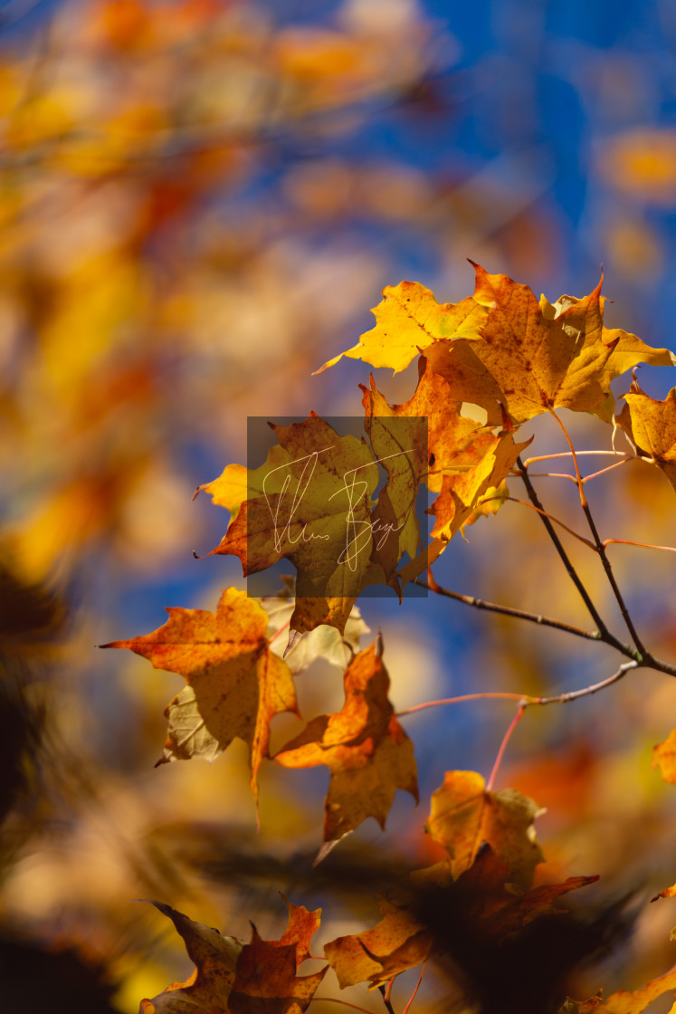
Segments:
[[[624,430],[641,457],[651,458],[676,490],[676,387],[663,402],[649,397],[635,376],[626,405],[615,421]]]

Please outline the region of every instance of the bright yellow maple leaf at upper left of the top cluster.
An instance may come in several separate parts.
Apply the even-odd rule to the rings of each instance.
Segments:
[[[372,312],[376,325],[358,344],[329,359],[316,373],[334,366],[344,356],[372,366],[405,369],[419,352],[439,339],[474,338],[486,311],[468,296],[459,303],[438,303],[419,282],[399,282],[383,289],[383,299]]]

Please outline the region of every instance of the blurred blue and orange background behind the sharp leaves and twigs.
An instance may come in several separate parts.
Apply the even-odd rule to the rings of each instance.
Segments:
[[[6,965],[27,962],[22,1009],[44,1009],[41,961],[52,1003],[91,989],[91,1010],[134,1012],[184,977],[180,941],[134,898],[244,939],[249,918],[279,931],[279,889],[316,903],[298,856],[319,844],[327,773],[268,765],[256,836],[243,747],[154,771],[182,681],[95,645],[242,586],[236,559],[194,560],[227,515],[192,493],[246,460],[247,416],[360,414],[368,367],[311,373],[372,325],[384,285],[457,300],[471,258],[553,300],[589,292],[603,265],[606,321],[674,348],[675,53],[668,0],[1,5],[0,933]],[[415,366],[380,373],[390,402],[412,393]],[[644,367],[641,383],[664,397],[674,379]],[[580,448],[610,447],[608,427],[568,422]],[[531,432],[532,453],[565,449],[550,423]],[[673,491],[649,466],[590,488],[603,536],[676,541]],[[582,526],[572,484],[540,490]],[[442,584],[588,626],[532,514],[508,504],[467,536]],[[619,630],[595,561],[571,552]],[[673,559],[613,550],[636,622],[672,660]],[[398,709],[616,667],[602,646],[436,596],[365,599],[363,615]],[[300,678],[307,717],[340,708],[337,670]],[[406,719],[421,807],[397,797],[387,834],[370,820],[355,840],[426,862],[430,792],[447,769],[487,775],[511,717],[482,702]],[[650,767],[675,717],[673,680],[641,673],[529,712],[504,763],[502,785],[548,808],[540,879],[601,873],[590,903],[635,914],[580,991],[635,987],[676,957],[673,902],[646,903],[676,880],[674,790]],[[280,723],[278,743],[295,729]],[[331,903],[323,939],[375,919],[372,903]],[[337,995],[328,979],[323,992]],[[432,973],[416,1003],[446,1009]]]

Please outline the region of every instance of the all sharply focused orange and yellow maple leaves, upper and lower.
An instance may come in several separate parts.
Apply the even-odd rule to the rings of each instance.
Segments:
[[[417,283],[387,288],[374,310],[376,327],[344,355],[394,370],[419,355],[420,379],[403,405],[388,405],[373,378],[370,389],[363,388],[370,446],[340,436],[312,414],[273,426],[278,442],[260,466],[228,465],[200,487],[231,514],[213,552],[237,555],[245,574],[289,559],[297,571],[296,598],[256,600],[229,588],[216,612],[170,608],[154,633],[108,645],[130,648],[185,679],[165,712],[168,737],[158,764],[214,759],[238,736],[249,747],[256,797],[271,721],[282,712],[298,714],[293,679],[322,656],[345,668],[345,704],[336,714],[311,719],[274,759],[288,768],[328,767],[323,852],[368,816],[384,827],[397,788],[418,800],[414,748],[388,699],[382,640],[358,651],[365,630],[354,604],[359,593],[382,583],[401,594],[477,512],[496,509],[527,445],[515,439],[517,431],[542,413],[567,408],[614,421],[636,454],[676,488],[676,388],[659,402],[634,380],[617,416],[610,389],[614,377],[640,363],[674,365],[676,357],[605,329],[600,289],[584,299],[549,303],[542,297],[538,303],[527,286],[478,267],[474,295],[457,304],[437,303]],[[376,461],[387,481],[374,501]],[[421,484],[437,495],[429,545],[416,515]],[[279,635],[287,627],[283,658]],[[662,745],[660,763],[673,754],[669,745]],[[341,987],[383,986],[437,953],[439,941],[411,900],[421,890],[471,897],[470,925],[501,943],[550,914],[560,895],[596,879],[533,887],[543,858],[533,825],[538,812],[532,800],[513,790],[494,792],[474,772],[448,772],[426,824],[446,858],[411,875],[408,899],[404,886],[381,898],[377,926],[325,946]],[[204,1012],[260,1010],[260,998],[274,998],[280,1010],[302,1011],[326,970],[297,975],[318,912],[289,906],[289,927],[279,941],[261,941],[254,931],[251,942],[241,944],[158,908],[185,940],[197,971],[143,1001],[147,1014],[187,1009],[189,997],[190,1009]],[[676,967],[636,993],[569,1001],[564,1009],[632,1014],[672,988]]]

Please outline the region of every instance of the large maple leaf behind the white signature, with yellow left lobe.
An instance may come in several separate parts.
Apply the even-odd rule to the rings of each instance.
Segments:
[[[248,473],[246,490],[241,466],[199,488],[237,509],[212,554],[238,556],[245,576],[287,557],[297,570],[291,630],[329,624],[343,632],[359,592],[383,578],[369,571],[377,464],[365,441],[339,436],[314,414],[272,429],[279,446]]]

